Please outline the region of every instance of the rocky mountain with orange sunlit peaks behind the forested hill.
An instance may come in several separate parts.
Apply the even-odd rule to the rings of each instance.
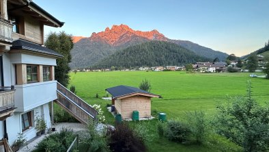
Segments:
[[[227,57],[226,53],[214,51],[187,40],[171,40],[160,34],[156,29],[152,31],[137,31],[128,27],[128,25],[113,25],[111,29],[107,27],[104,31],[94,32],[89,38],[74,36],[74,48],[71,51],[72,62],[70,67],[87,68],[119,50],[152,40],[172,42],[193,51],[197,55],[212,60],[214,58],[225,60]]]

